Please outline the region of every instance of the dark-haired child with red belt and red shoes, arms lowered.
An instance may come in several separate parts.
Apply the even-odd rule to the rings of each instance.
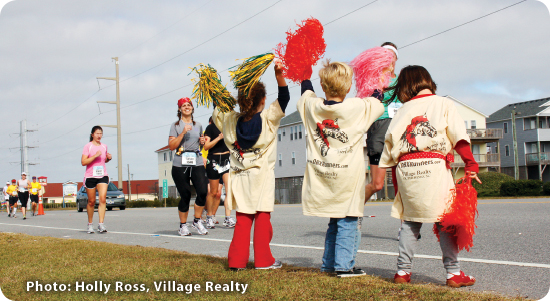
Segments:
[[[422,66],[403,68],[392,88],[392,98],[398,97],[404,105],[386,133],[380,167],[396,168],[398,190],[391,216],[403,220],[394,281],[411,281],[420,228],[423,223],[436,223],[447,285],[470,286],[476,280],[460,269],[456,236],[441,231],[438,220],[449,206],[455,187],[450,169],[452,150],[464,161],[467,175],[478,182],[479,167],[470,150],[464,120],[453,101],[435,95],[436,89]]]

